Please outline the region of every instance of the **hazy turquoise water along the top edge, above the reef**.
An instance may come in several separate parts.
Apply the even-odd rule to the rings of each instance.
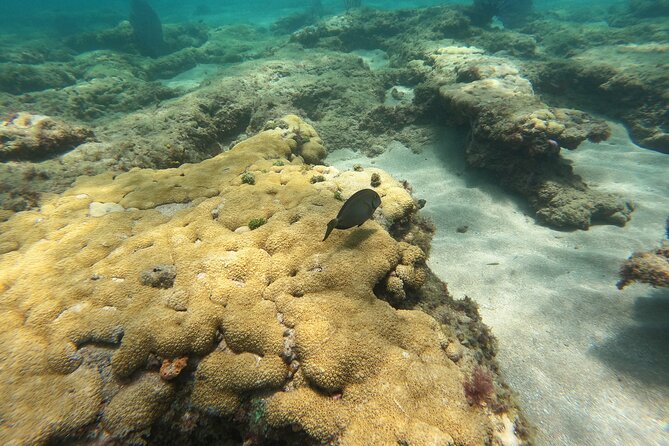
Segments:
[[[129,0],[33,0],[0,1],[0,33],[71,34],[92,28],[114,26],[128,17]],[[469,4],[467,0],[363,0],[372,8],[416,8],[445,4]],[[592,11],[588,21],[598,21],[597,11],[624,6],[626,0],[535,0],[538,11],[547,9]],[[163,23],[199,21],[210,24],[251,23],[268,25],[279,17],[300,12],[311,0],[153,0],[150,4]],[[322,0],[326,14],[344,10],[343,0]]]

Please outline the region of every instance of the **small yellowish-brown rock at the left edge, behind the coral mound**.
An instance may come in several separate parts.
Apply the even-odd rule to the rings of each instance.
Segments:
[[[0,122],[0,161],[44,160],[94,137],[93,131],[21,112]]]

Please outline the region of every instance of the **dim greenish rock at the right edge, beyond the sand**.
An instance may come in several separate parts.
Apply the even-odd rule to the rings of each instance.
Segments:
[[[666,43],[598,45],[538,64],[534,76],[542,93],[621,119],[637,144],[669,153],[668,58]]]

